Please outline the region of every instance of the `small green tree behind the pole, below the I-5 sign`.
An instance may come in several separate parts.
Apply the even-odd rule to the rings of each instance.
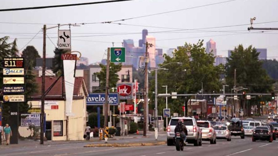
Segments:
[[[100,64],[100,67],[100,72],[96,72],[95,74],[99,78],[100,88],[104,88],[106,84],[106,65]],[[116,87],[117,82],[120,80],[117,72],[120,72],[121,68],[121,64],[110,63],[109,88]]]

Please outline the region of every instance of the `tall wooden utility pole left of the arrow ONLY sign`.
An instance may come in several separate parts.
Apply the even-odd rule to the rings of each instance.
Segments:
[[[44,144],[44,94],[45,94],[45,36],[46,25],[43,28],[43,67],[41,77],[41,108],[40,108],[40,144]]]

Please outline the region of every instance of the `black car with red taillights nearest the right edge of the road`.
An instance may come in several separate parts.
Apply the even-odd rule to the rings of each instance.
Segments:
[[[252,135],[252,142],[255,142],[257,140],[272,142],[273,138],[270,128],[267,126],[256,127]]]

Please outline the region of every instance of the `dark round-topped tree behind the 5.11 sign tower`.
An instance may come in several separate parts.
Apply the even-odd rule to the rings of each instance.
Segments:
[[[27,46],[22,51],[21,57],[24,57],[25,68],[28,69],[29,66],[31,66],[31,68],[36,66],[36,58],[40,58],[40,55],[34,46]]]

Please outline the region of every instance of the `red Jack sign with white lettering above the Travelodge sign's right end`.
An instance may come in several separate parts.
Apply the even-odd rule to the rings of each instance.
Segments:
[[[117,84],[117,92],[119,93],[120,99],[133,99],[132,83]]]

